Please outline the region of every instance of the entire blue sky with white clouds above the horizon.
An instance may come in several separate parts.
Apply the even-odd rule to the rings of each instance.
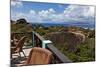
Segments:
[[[89,5],[11,1],[11,20],[31,23],[95,23],[95,7]]]

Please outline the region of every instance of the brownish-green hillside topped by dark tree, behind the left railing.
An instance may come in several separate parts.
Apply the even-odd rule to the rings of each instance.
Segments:
[[[28,23],[25,19],[19,19],[11,22],[11,32],[32,32],[32,24]]]

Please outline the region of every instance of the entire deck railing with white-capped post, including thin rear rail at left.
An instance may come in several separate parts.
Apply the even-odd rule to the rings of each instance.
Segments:
[[[26,34],[26,33],[14,33],[14,34],[18,35],[18,34]],[[27,34],[31,35],[33,47],[46,48],[53,53],[54,59],[52,63],[56,64],[56,63],[71,63],[72,62],[71,60],[68,59],[67,56],[62,54],[55,46],[53,46],[53,43],[50,40],[45,40],[38,33],[34,31],[29,32]]]

